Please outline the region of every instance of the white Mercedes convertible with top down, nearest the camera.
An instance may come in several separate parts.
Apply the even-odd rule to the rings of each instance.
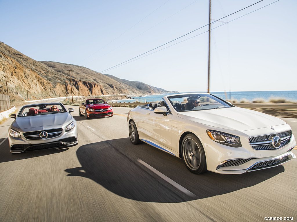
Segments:
[[[207,93],[174,94],[128,113],[132,144],[182,158],[192,173],[240,174],[295,159],[290,126]]]

